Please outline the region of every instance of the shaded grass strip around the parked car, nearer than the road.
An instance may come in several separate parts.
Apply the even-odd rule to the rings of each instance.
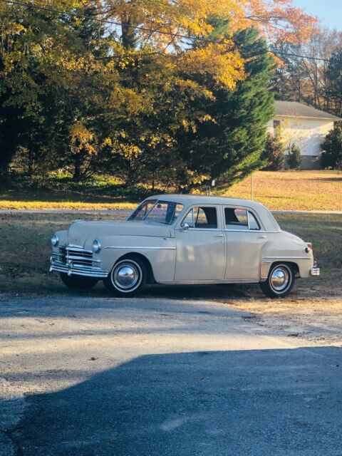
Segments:
[[[124,214],[82,214],[83,219],[125,219]],[[0,214],[0,292],[22,294],[72,294],[58,274],[48,273],[53,232],[65,229],[75,214]],[[342,216],[335,214],[279,214],[283,229],[314,243],[314,254],[321,266],[321,276],[299,281],[295,292],[341,295]],[[259,287],[237,287],[252,290]],[[185,293],[191,293],[185,291]],[[309,290],[309,291],[308,291]],[[98,293],[97,289],[91,293]],[[290,295],[293,296],[293,295]]]

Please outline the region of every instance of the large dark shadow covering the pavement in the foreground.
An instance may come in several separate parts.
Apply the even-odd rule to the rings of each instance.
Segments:
[[[341,455],[341,349],[140,356],[26,398],[16,456]]]

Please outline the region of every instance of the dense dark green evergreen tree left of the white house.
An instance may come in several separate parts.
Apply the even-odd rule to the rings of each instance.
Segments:
[[[214,19],[213,24],[217,33],[222,34],[222,28],[227,33],[227,22]],[[215,179],[217,190],[224,191],[263,164],[266,123],[274,114],[273,95],[268,90],[274,60],[254,28],[239,31],[232,39],[246,61],[247,76],[237,83],[236,90],[217,86],[209,76],[198,76],[197,81],[211,90],[213,97],[201,100],[200,105],[192,103],[202,109],[202,118],[178,138],[187,170],[204,177],[195,184],[180,182],[188,190]]]

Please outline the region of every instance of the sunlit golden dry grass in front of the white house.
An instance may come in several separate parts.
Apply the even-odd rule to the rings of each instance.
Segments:
[[[225,196],[249,199],[251,177],[234,185]],[[255,172],[254,199],[272,210],[342,211],[342,172]]]

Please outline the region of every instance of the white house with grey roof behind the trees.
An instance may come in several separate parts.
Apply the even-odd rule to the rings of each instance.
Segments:
[[[284,140],[286,154],[289,145],[299,146],[302,169],[319,169],[321,143],[334,124],[342,119],[294,101],[276,100],[274,103],[276,113],[268,124],[269,132]]]

